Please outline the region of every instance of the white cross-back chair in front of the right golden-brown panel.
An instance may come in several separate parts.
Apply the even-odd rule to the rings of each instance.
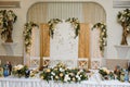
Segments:
[[[89,60],[87,58],[79,58],[78,59],[78,67],[88,70],[88,65],[89,65],[88,62],[89,62]]]

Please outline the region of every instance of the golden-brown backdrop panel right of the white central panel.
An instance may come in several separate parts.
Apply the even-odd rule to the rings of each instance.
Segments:
[[[87,58],[90,61],[90,25],[81,23],[79,32],[78,58]]]

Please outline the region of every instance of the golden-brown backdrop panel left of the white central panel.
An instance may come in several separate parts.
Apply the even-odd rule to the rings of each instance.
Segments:
[[[41,24],[40,27],[40,66],[42,66],[42,58],[50,57],[50,35],[48,24]]]

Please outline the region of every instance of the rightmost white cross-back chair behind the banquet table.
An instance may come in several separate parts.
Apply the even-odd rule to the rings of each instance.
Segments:
[[[101,58],[92,58],[91,59],[91,69],[98,70],[102,65],[102,59]]]

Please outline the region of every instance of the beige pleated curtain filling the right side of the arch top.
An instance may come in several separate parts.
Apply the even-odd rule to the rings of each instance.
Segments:
[[[83,22],[95,24],[106,22],[106,13],[102,5],[94,2],[82,3]]]

